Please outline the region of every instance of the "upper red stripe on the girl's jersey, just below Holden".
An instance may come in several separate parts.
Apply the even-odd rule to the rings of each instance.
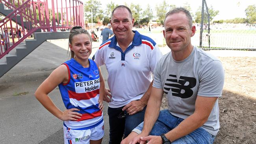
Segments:
[[[74,98],[76,100],[89,100],[90,98],[94,98],[97,94],[100,94],[100,89],[93,90],[91,92],[85,93],[76,93],[68,90],[69,98]]]

